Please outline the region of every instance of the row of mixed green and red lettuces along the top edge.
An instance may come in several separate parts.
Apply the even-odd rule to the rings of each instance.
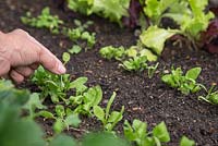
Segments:
[[[75,12],[86,15],[95,13],[120,24],[121,17],[130,16],[129,25],[142,26],[138,41],[157,56],[161,54],[166,40],[174,35],[180,36],[175,41],[185,40],[190,49],[206,46],[209,51],[217,51],[211,40],[202,35],[203,32],[209,35],[207,28],[215,17],[213,12],[206,11],[208,0],[69,0],[68,5]],[[166,17],[172,20],[175,27],[165,28],[162,19]],[[126,23],[126,17],[123,23]],[[217,36],[216,33],[213,34]]]

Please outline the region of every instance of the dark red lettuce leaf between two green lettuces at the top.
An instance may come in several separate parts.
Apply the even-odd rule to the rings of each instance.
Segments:
[[[129,8],[129,17],[123,17],[122,22],[124,26],[135,28],[140,25],[140,14],[143,8],[138,0],[131,0],[130,8]]]

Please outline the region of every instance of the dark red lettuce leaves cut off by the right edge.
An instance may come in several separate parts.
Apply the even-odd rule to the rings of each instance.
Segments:
[[[207,51],[218,53],[218,20],[211,21],[207,31],[202,33],[201,42]]]

